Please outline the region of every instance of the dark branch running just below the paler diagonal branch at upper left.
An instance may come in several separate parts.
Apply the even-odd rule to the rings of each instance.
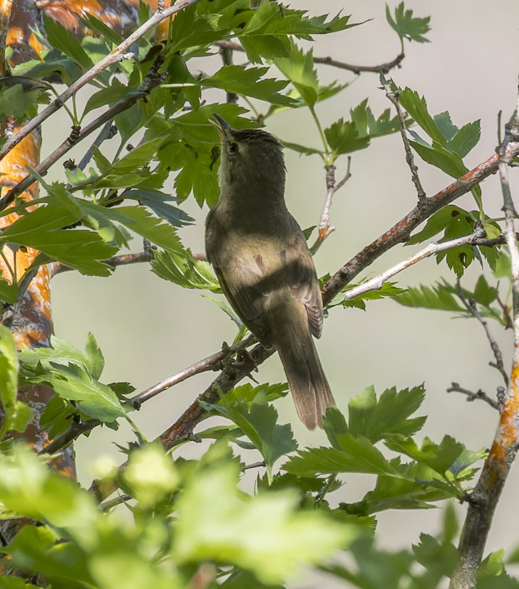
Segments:
[[[101,125],[105,125],[111,123],[116,115],[119,112],[123,112],[133,106],[135,102],[140,100],[142,97],[147,96],[155,87],[157,87],[165,77],[165,74],[159,74],[158,70],[164,63],[164,58],[161,55],[158,55],[155,59],[154,64],[149,68],[148,74],[144,78],[142,84],[135,90],[134,92],[129,93],[127,96],[116,102],[114,106],[109,108],[104,114],[100,117],[92,121],[92,123],[86,125],[86,127],[82,128],[81,130],[77,130],[75,127],[72,128],[71,135],[66,138],[66,140],[59,145],[48,157],[42,161],[39,166],[36,166],[35,171],[40,176],[44,175],[46,171],[53,166],[56,161],[59,160],[63,155],[67,153],[67,151],[71,150],[79,141],[82,141],[85,137],[88,137],[91,133],[93,133],[97,128],[101,127]],[[34,119],[33,119],[34,120]],[[26,125],[25,125],[26,126]],[[25,127],[22,127],[24,130]],[[99,137],[98,137],[99,139]],[[32,174],[28,174],[25,178],[20,181],[16,186],[11,188],[8,193],[6,193],[0,199],[0,211],[4,210],[6,206],[12,203],[14,199],[24,192],[31,184],[35,181],[35,177]]]

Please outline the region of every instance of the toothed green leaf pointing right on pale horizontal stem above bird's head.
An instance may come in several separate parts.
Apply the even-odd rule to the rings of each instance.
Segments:
[[[271,104],[290,106],[294,102],[290,97],[280,94],[280,90],[288,84],[286,80],[268,78],[261,80],[268,68],[245,68],[244,65],[224,65],[210,78],[204,78],[200,84],[209,88],[222,88],[227,92],[235,92],[265,100]]]

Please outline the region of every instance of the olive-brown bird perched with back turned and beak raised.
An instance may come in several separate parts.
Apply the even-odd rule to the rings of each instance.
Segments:
[[[322,298],[307,242],[285,204],[281,143],[214,114],[221,139],[220,194],[205,223],[205,251],[242,322],[280,355],[295,409],[308,429],[335,405],[313,337]]]

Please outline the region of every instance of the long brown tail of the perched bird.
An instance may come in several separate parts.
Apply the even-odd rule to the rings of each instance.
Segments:
[[[335,405],[322,370],[307,311],[299,301],[271,309],[272,343],[277,348],[294,398],[295,409],[308,429],[321,427],[328,405]]]

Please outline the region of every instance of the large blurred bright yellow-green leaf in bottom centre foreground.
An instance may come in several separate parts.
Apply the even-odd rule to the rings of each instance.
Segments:
[[[235,564],[262,583],[284,583],[303,564],[324,561],[361,534],[324,511],[301,510],[294,489],[244,497],[238,475],[239,466],[229,461],[198,470],[187,482],[177,503],[175,561]]]

